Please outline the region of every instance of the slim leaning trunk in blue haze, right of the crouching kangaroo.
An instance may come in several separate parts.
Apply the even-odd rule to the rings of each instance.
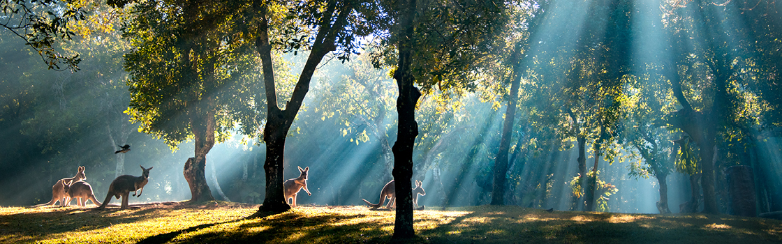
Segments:
[[[505,120],[502,124],[502,138],[497,157],[494,161],[494,181],[492,184],[491,205],[504,205],[505,175],[508,174],[508,150],[511,148],[511,129],[516,118],[516,101],[518,100],[518,84],[522,80],[521,45],[517,44],[513,53],[515,65],[513,66],[513,81],[511,81],[511,95],[508,97],[508,108],[505,110]]]

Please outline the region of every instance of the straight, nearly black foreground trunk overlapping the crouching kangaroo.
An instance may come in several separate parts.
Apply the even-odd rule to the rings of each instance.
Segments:
[[[394,221],[392,239],[410,239],[415,236],[413,229],[413,147],[418,136],[418,122],[415,121],[415,105],[421,97],[421,91],[414,86],[415,78],[411,74],[413,59],[413,26],[416,0],[400,0],[396,37],[399,41],[399,63],[393,78],[399,88],[396,98],[396,112],[399,113],[396,142],[393,145],[394,181],[396,181],[396,221]]]

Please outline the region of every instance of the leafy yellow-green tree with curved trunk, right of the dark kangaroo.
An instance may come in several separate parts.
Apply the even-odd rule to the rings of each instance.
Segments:
[[[123,2],[117,5],[124,5]],[[195,141],[183,170],[192,199],[213,200],[206,185],[206,153],[230,135],[242,101],[256,94],[252,44],[236,24],[241,2],[136,2],[124,28],[135,51],[125,55],[131,73],[127,113],[145,133],[176,149]],[[163,21],[161,21],[163,20]],[[237,105],[239,104],[239,105]]]

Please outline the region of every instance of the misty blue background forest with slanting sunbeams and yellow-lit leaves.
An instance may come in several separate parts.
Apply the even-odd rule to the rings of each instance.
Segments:
[[[294,106],[307,76],[282,141],[285,179],[310,167],[312,196],[297,204],[377,201],[400,124],[396,29],[377,10],[388,3],[268,3],[271,74],[247,30],[252,1],[187,2],[37,5],[84,11],[54,45],[78,55],[77,70],[10,31],[19,16],[4,9],[0,205],[47,203],[79,166],[98,199],[137,165],[154,169],[131,203],[195,199],[185,165],[199,153],[206,199],[264,203],[267,108]],[[347,16],[322,49],[329,29],[317,20],[334,5],[353,10],[325,21]],[[418,204],[730,213],[727,169],[748,166],[757,213],[782,210],[780,10],[765,0],[418,2]],[[267,103],[265,75],[278,102]],[[196,100],[208,102],[181,102]],[[200,116],[212,131],[192,124]]]

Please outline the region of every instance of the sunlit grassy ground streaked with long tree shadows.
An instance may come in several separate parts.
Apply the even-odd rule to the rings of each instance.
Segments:
[[[149,203],[138,209],[0,207],[0,243],[386,243],[394,211],[299,206],[256,217],[257,205]],[[782,221],[706,214],[466,206],[415,211],[411,243],[780,243]],[[252,217],[251,217],[252,216]]]

